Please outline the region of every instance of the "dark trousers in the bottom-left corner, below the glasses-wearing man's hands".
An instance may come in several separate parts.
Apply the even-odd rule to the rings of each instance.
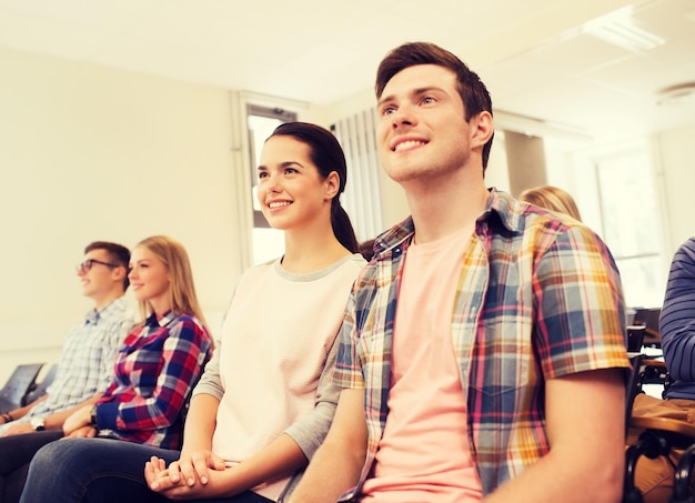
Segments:
[[[63,435],[62,430],[0,437],[0,495],[2,503],[17,503],[24,487],[33,455]]]

